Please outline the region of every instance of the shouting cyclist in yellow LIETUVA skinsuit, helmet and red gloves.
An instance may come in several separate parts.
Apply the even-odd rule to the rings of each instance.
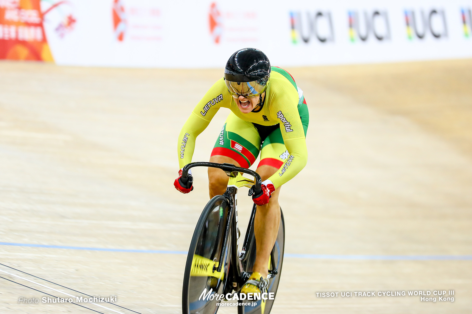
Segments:
[[[307,162],[308,108],[303,91],[290,74],[271,67],[260,50],[238,50],[229,58],[225,76],[205,94],[180,132],[177,149],[180,168],[192,161],[196,137],[220,107],[231,112],[210,161],[249,168],[261,152],[256,172],[263,180],[262,192],[253,195],[257,205],[256,260],[251,277],[241,289],[242,293],[257,293],[267,288],[267,266],[280,223],[280,186],[298,174]],[[189,176],[185,184],[180,180],[181,174],[179,171],[174,186],[188,193],[193,189],[193,179]],[[223,194],[228,184],[224,171],[208,168],[208,176],[210,198]]]

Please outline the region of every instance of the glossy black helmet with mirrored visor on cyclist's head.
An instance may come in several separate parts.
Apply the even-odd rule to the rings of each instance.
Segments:
[[[269,58],[255,48],[236,51],[226,63],[225,83],[235,98],[260,96],[267,88],[269,77]]]

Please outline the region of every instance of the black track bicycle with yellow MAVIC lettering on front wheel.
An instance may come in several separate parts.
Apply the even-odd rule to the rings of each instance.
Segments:
[[[273,298],[232,301],[250,277],[256,258],[256,205],[253,205],[244,244],[240,249],[237,190],[243,186],[250,188],[254,184],[254,193],[260,193],[261,177],[253,170],[231,164],[195,162],[185,165],[182,169],[184,182],[188,180],[188,170],[196,166],[220,168],[229,176],[229,181],[226,192],[211,198],[207,203],[195,227],[185,264],[182,313],[215,314],[220,303],[231,300],[230,302],[238,303],[238,314],[268,314],[274,302]],[[252,175],[255,182],[243,177],[241,173]],[[268,292],[273,293],[274,297],[282,270],[284,244],[284,216],[280,209],[280,226],[270,253],[267,276]],[[221,295],[224,295],[224,299],[219,298]]]

